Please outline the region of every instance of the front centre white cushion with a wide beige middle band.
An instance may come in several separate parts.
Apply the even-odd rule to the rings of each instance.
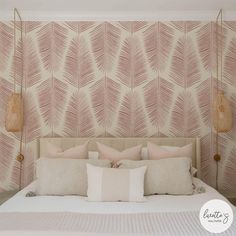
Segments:
[[[143,201],[146,166],[127,169],[101,168],[87,164],[88,200],[104,202]]]

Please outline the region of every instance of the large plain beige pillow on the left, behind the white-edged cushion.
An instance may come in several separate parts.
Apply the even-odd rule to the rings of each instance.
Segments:
[[[38,195],[87,195],[86,164],[110,167],[108,160],[40,158],[36,162]]]

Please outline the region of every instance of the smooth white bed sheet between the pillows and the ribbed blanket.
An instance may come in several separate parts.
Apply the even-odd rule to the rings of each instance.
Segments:
[[[88,202],[80,196],[36,196],[25,197],[35,190],[35,182],[18,192],[0,206],[0,212],[80,212],[98,214],[122,214],[145,212],[183,212],[199,211],[205,202],[211,199],[227,201],[215,189],[200,179],[194,178],[197,187],[204,187],[205,192],[189,196],[153,195],[145,202]],[[231,205],[235,210],[236,208]]]

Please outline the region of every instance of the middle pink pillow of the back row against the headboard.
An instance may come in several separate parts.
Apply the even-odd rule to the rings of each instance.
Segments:
[[[113,163],[119,160],[140,160],[141,159],[141,149],[142,145],[127,148],[120,152],[114,148],[97,142],[97,148],[99,152],[100,159],[111,160]]]

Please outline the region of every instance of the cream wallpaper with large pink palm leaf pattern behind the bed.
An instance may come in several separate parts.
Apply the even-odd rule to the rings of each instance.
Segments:
[[[224,22],[222,89],[234,116],[219,137],[219,186],[236,195],[236,22]],[[0,23],[0,191],[17,188],[19,134],[5,107],[24,61],[24,185],[38,137],[200,137],[202,179],[215,185],[212,22],[25,22],[13,57],[13,25]]]

